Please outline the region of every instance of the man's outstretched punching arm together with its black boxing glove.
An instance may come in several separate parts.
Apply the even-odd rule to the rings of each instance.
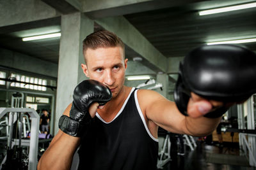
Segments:
[[[252,86],[255,66],[256,54],[241,46],[195,48],[180,63],[174,90],[177,107],[154,92],[144,92],[152,96],[145,97],[149,101],[147,118],[169,131],[209,134],[232,104],[242,103],[256,92]]]

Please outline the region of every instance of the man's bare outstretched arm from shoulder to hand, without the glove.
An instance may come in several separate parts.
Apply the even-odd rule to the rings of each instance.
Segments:
[[[147,101],[141,99],[141,97],[147,99]],[[152,90],[139,90],[138,99],[148,120],[166,129],[166,131],[193,136],[205,136],[214,131],[220,122],[220,118],[200,116],[202,113],[198,111],[198,105],[202,104],[202,102],[205,104],[207,101],[199,99],[189,101],[191,106],[188,106],[188,111],[193,112],[195,117],[185,117],[179,112],[175,103],[168,101]],[[212,107],[212,104],[210,106]]]

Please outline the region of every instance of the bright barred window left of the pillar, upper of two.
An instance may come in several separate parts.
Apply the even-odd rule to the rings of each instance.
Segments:
[[[34,83],[37,85],[28,85],[26,83],[11,83],[12,87],[20,87],[24,89],[31,89],[31,90],[40,90],[40,91],[46,91],[46,87],[42,87],[39,85],[47,85],[47,80],[42,79],[42,78],[34,78],[34,77],[29,77],[29,76],[24,76],[20,74],[11,74],[11,77],[15,77],[17,81],[24,81],[27,83]]]

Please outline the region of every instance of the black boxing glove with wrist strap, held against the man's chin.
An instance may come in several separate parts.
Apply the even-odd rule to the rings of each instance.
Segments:
[[[97,102],[102,106],[110,101],[111,97],[111,90],[99,81],[82,81],[74,89],[69,117],[66,115],[60,117],[59,128],[70,136],[80,137],[86,125],[92,120],[88,111],[90,104]]]

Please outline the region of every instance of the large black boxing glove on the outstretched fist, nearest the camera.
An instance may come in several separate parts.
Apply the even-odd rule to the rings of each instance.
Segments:
[[[211,45],[195,48],[180,63],[174,99],[179,111],[188,115],[190,92],[205,99],[240,102],[256,92],[256,54],[236,45]],[[205,117],[221,117],[225,106]]]

